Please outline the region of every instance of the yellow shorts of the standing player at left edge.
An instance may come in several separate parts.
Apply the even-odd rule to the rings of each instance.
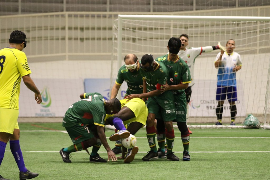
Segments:
[[[0,108],[0,132],[13,134],[14,129],[19,129],[18,109]]]

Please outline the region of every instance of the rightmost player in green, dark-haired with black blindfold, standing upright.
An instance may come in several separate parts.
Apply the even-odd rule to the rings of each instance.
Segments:
[[[190,155],[188,154],[188,147],[190,133],[186,121],[187,104],[185,89],[187,89],[188,84],[191,83],[191,76],[188,65],[177,55],[180,47],[181,40],[179,38],[170,38],[167,46],[169,54],[158,57],[156,60],[163,62],[169,72],[168,83],[161,88],[161,92],[173,91],[176,108],[176,120],[174,122],[177,122],[178,129],[181,132],[181,139],[184,146],[183,161],[189,161]],[[158,122],[157,131],[164,131],[163,126],[159,125]]]

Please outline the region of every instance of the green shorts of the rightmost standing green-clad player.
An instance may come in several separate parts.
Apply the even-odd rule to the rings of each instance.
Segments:
[[[185,92],[179,94],[174,94],[175,110],[176,110],[176,120],[173,122],[187,122],[187,99]]]

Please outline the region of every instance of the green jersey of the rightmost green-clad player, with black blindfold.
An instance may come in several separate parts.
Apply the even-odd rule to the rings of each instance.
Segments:
[[[187,63],[178,56],[176,61],[169,61],[168,54],[156,58],[156,61],[163,62],[168,69],[168,85],[191,83],[190,71]],[[184,89],[173,90],[173,93],[184,92]]]

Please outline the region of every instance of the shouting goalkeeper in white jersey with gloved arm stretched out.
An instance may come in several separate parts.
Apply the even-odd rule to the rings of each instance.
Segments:
[[[186,99],[187,99],[187,121],[188,121],[188,103],[190,102],[190,97],[191,97],[191,86],[194,85],[193,78],[194,78],[194,63],[195,59],[201,55],[203,52],[211,52],[216,49],[221,49],[224,52],[226,52],[226,49],[220,45],[218,42],[218,45],[216,46],[205,46],[205,47],[198,47],[198,48],[186,48],[188,46],[188,35],[187,34],[181,34],[180,35],[180,40],[182,42],[180,51],[178,53],[178,56],[183,59],[190,70],[190,76],[191,76],[191,83],[188,84],[188,88],[185,89],[186,93]],[[189,130],[190,134],[192,132]]]

